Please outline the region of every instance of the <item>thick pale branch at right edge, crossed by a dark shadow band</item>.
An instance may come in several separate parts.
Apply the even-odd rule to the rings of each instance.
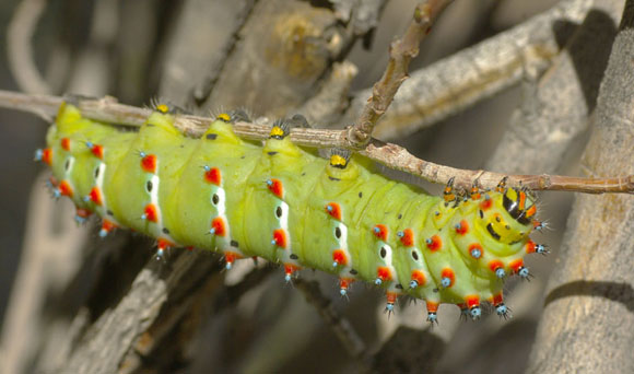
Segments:
[[[584,155],[590,175],[634,171],[634,1],[629,0]],[[529,373],[634,372],[634,198],[577,196]]]

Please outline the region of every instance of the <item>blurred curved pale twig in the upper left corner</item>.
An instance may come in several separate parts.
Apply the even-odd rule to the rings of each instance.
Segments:
[[[33,60],[31,39],[47,0],[23,0],[16,8],[7,31],[9,67],[17,85],[33,93],[49,93],[50,87]]]

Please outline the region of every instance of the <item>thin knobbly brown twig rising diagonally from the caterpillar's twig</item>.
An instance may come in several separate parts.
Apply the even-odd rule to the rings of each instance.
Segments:
[[[354,127],[348,130],[348,139],[356,149],[363,149],[372,140],[376,122],[387,110],[402,82],[408,78],[412,58],[419,55],[419,45],[431,31],[432,24],[453,0],[427,0],[416,5],[413,19],[402,38],[392,42],[389,61],[381,79],[374,84],[372,97],[363,108]]]

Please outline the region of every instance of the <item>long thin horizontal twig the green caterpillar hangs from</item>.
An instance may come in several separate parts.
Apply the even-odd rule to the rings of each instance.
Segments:
[[[32,112],[49,118],[55,116],[62,102],[63,98],[59,96],[27,95],[0,90],[0,107]],[[143,125],[151,113],[151,109],[118,104],[114,97],[109,96],[101,100],[82,100],[78,105],[86,118],[127,126]],[[185,135],[199,137],[212,121],[213,118],[177,115],[174,125]],[[236,122],[234,131],[245,139],[266,140],[269,138],[268,127],[261,125]],[[347,137],[347,130],[294,128],[290,137],[295,144],[303,147],[354,148]],[[473,183],[477,183],[481,188],[494,188],[502,178],[508,177],[509,186],[521,186],[532,190],[634,194],[634,175],[583,178],[548,174],[505,175],[503,173],[462,170],[416,159],[402,147],[376,139],[372,139],[371,143],[360,153],[387,167],[420,176],[432,183],[446,184],[450,178],[455,178],[454,185],[463,189],[470,188]]]

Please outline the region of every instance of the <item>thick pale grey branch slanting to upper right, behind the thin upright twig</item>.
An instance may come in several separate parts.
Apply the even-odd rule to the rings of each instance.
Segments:
[[[413,71],[373,136],[388,141],[402,138],[517,84],[525,71],[540,75],[554,63],[591,7],[590,0],[562,1],[513,28]],[[369,95],[372,87],[354,94],[343,122],[354,122]]]

